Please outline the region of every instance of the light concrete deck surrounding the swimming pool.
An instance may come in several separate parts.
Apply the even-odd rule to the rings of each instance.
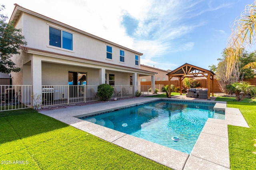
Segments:
[[[159,99],[166,100],[166,98],[139,97],[97,102],[95,104],[52,107],[51,109],[42,109],[39,112],[175,170],[228,170],[230,168],[228,125],[249,126],[239,109],[226,107],[226,102],[217,102],[214,107],[214,109],[226,111],[225,120],[209,118],[190,154],[77,118]],[[173,96],[169,100],[174,99],[184,100],[180,96],[176,98]],[[194,100],[194,98],[186,99],[193,100],[194,102],[214,102],[212,100]]]

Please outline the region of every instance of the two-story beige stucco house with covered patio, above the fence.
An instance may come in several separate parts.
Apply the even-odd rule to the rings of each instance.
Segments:
[[[27,45],[12,57],[21,68],[11,73],[12,84],[32,85],[33,93],[42,94],[44,86],[107,83],[128,85],[126,91],[134,94],[139,76],[154,80],[154,72],[140,69],[142,53],[14,5],[10,21],[22,29]],[[56,92],[56,100],[68,96]]]

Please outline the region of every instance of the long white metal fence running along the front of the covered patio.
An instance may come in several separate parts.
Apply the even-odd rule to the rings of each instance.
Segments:
[[[32,85],[0,85],[0,111],[30,108],[33,105],[48,107],[99,100],[98,86],[90,85],[44,85],[42,94],[34,94]],[[134,86],[112,86],[111,99],[134,96]]]

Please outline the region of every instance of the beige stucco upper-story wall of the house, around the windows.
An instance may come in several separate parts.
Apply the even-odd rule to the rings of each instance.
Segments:
[[[135,65],[135,55],[138,54],[135,54],[132,51],[108,44],[104,41],[100,41],[99,39],[92,38],[88,35],[84,35],[56,23],[37,18],[36,16],[32,16],[30,14],[24,13],[22,15],[22,19],[17,22],[17,25],[19,25],[21,21],[24,23],[22,29],[24,36],[26,37],[26,41],[28,42],[28,47],[85,59],[102,61],[105,63],[140,68],[140,66]],[[49,45],[49,26],[62,29],[73,34],[72,51]],[[112,60],[106,59],[106,45],[112,47]],[[120,50],[123,50],[125,54],[124,63],[120,62]],[[138,56],[140,57],[140,55]]]

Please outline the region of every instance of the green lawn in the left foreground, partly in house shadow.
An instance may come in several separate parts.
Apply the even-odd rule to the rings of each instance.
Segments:
[[[166,166],[32,109],[0,112],[0,169],[146,169]]]

